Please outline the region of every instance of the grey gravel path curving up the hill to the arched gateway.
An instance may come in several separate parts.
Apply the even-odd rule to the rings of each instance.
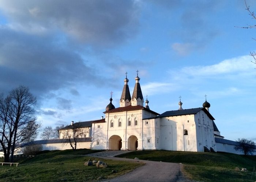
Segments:
[[[117,158],[115,155],[128,153],[131,151],[103,151],[99,153],[89,154],[91,157],[101,157],[104,159],[118,160],[118,161],[138,161],[145,163],[144,166],[138,167],[135,170],[121,175],[119,177],[108,179],[104,181],[109,182],[189,182],[181,173],[182,164],[169,162],[155,162],[145,160],[135,160],[126,158]]]

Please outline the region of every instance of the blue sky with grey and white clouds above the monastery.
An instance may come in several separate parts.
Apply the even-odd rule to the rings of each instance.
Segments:
[[[119,107],[138,70],[151,110],[207,95],[225,139],[256,142],[256,29],[240,28],[255,23],[243,0],[1,0],[0,92],[29,87],[56,127],[101,119],[110,92]]]

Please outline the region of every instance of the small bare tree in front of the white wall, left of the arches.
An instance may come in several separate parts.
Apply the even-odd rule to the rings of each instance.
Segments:
[[[69,143],[72,150],[76,150],[78,138],[82,138],[87,132],[86,130],[83,130],[80,122],[78,122],[67,126],[67,128],[61,130],[61,133],[63,134],[63,138],[66,140],[65,143]]]

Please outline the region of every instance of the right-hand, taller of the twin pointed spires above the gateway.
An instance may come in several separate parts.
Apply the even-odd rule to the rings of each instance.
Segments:
[[[142,95],[142,91],[140,88],[140,78],[138,76],[138,70],[137,72],[137,76],[135,78],[135,86],[134,86],[134,90],[133,90],[133,94],[132,94],[132,106],[143,106],[144,100],[143,100],[143,95]]]

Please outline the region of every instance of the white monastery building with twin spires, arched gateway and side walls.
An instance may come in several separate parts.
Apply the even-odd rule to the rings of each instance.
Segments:
[[[242,154],[234,150],[237,142],[221,136],[214,117],[209,112],[207,100],[203,107],[182,109],[159,114],[150,110],[148,100],[144,102],[138,74],[133,94],[124,79],[119,107],[110,103],[106,106],[105,118],[71,123],[59,130],[59,139],[35,141],[44,150],[70,149],[63,140],[72,128],[80,128],[78,148],[104,150],[173,150],[173,151],[223,151]],[[145,105],[144,105],[145,104]]]

